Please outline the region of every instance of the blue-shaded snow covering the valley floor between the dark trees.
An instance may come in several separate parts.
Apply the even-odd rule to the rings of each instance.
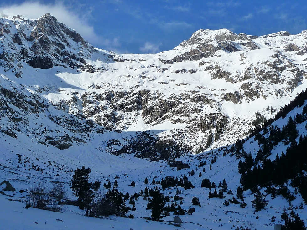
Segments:
[[[306,105],[306,103],[304,104]],[[291,111],[287,117],[280,118],[274,122],[274,125],[282,127],[287,123],[289,116],[294,116],[296,113],[301,113],[302,107],[295,108]],[[300,125],[297,125],[299,134],[305,134],[306,121]],[[113,226],[115,229],[176,229],[174,226],[167,225],[168,222],[146,222],[145,219],[141,217],[150,216],[151,210],[146,210],[146,205],[148,201],[144,201],[142,197],[139,197],[136,201],[136,211],[129,211],[128,214],[132,213],[134,219],[126,219],[122,217],[117,217],[113,220],[109,219],[95,219],[89,217],[82,217],[74,212],[80,212],[76,207],[67,206],[65,213],[53,213],[44,210],[35,210],[33,208],[23,209],[24,204],[18,201],[9,201],[7,199],[17,199],[24,200],[22,198],[25,196],[25,192],[20,193],[19,190],[28,189],[29,185],[33,182],[45,182],[50,183],[52,181],[61,181],[66,187],[69,187],[69,181],[71,179],[72,173],[66,173],[64,171],[69,171],[70,169],[75,169],[76,167],[81,167],[82,165],[89,166],[91,171],[90,180],[100,180],[102,182],[110,180],[112,183],[115,181],[115,176],[119,176],[117,179],[119,186],[118,189],[123,193],[129,192],[129,194],[134,194],[135,192],[140,192],[142,189],[144,191],[145,187],[154,188],[155,186],[160,187],[160,185],[145,185],[143,183],[144,179],[147,177],[151,182],[153,178],[155,181],[165,178],[165,176],[177,176],[182,177],[183,175],[189,175],[189,172],[193,169],[195,171],[194,176],[188,176],[188,179],[195,186],[193,189],[182,190],[180,196],[184,197],[183,204],[181,205],[184,209],[193,207],[191,205],[191,200],[193,196],[199,197],[202,207],[194,206],[195,212],[192,215],[180,216],[184,221],[182,227],[185,229],[230,229],[235,226],[247,227],[247,225],[252,224],[252,229],[273,229],[273,225],[276,223],[283,223],[280,218],[282,209],[284,206],[288,207],[288,201],[281,196],[271,199],[267,196],[266,199],[269,200],[269,204],[265,210],[254,213],[254,209],[251,205],[251,200],[254,198],[250,190],[244,192],[246,197],[244,201],[247,203],[247,207],[242,209],[238,205],[230,204],[230,206],[224,206],[223,202],[225,199],[232,199],[232,195],[226,195],[225,199],[218,198],[208,198],[208,188],[201,188],[200,184],[202,179],[205,177],[209,178],[211,182],[215,182],[218,185],[219,181],[223,179],[226,180],[228,184],[228,189],[231,189],[234,194],[236,194],[237,186],[240,185],[240,174],[237,171],[237,165],[239,159],[231,154],[222,156],[223,149],[214,150],[214,154],[211,151],[204,152],[197,155],[191,155],[188,157],[181,157],[179,160],[190,165],[190,169],[182,169],[176,171],[176,168],[171,168],[167,162],[149,162],[142,159],[130,158],[130,156],[112,156],[109,154],[101,155],[100,151],[95,149],[94,146],[88,146],[84,149],[82,146],[75,148],[71,147],[67,150],[58,150],[54,147],[52,153],[44,145],[34,143],[29,140],[29,137],[21,137],[18,139],[4,136],[5,141],[1,143],[1,149],[3,155],[0,161],[1,164],[1,178],[9,180],[12,185],[16,188],[16,192],[7,192],[6,195],[12,195],[13,197],[0,196],[0,202],[3,207],[7,207],[7,212],[1,216],[3,229],[83,229],[87,226],[88,229],[96,229],[98,227],[109,228]],[[297,139],[298,141],[298,139]],[[281,151],[285,152],[288,145],[282,144],[280,142],[272,151],[273,158],[276,153]],[[244,143],[244,149],[247,152],[252,152],[252,156],[255,157],[256,152],[260,146],[258,146],[257,141],[253,138],[247,140]],[[40,166],[44,169],[43,175],[40,172],[36,172],[31,169],[30,171],[23,169],[22,164],[18,164],[18,156],[16,154],[22,154],[22,158],[30,159],[30,162],[34,162],[35,165]],[[64,156],[64,155],[65,156]],[[212,164],[212,170],[209,169],[210,160],[213,156],[217,156],[217,161]],[[271,157],[270,156],[270,157]],[[35,160],[35,157],[39,158],[39,161]],[[51,161],[52,166],[44,165],[44,161]],[[206,161],[205,166],[198,167],[201,161]],[[27,163],[27,165],[30,163]],[[20,165],[21,168],[16,166]],[[48,165],[48,164],[47,164]],[[54,166],[56,165],[56,166]],[[63,168],[61,170],[61,168]],[[203,168],[206,169],[203,172]],[[55,171],[53,171],[55,169]],[[202,176],[198,177],[199,172],[202,172]],[[59,176],[55,174],[59,173]],[[131,187],[131,181],[136,182],[136,187]],[[261,190],[264,191],[264,188]],[[290,187],[290,191],[294,192],[294,188]],[[264,193],[264,192],[263,192]],[[71,194],[71,191],[70,191]],[[164,191],[165,195],[174,196],[176,194],[176,188],[167,189]],[[72,198],[73,196],[70,195]],[[294,206],[299,206],[303,202],[300,194],[296,195],[296,199],[292,201]],[[13,204],[11,204],[13,203]],[[304,203],[304,202],[303,202]],[[306,206],[304,205],[304,208]],[[306,216],[306,210],[295,210],[299,213],[301,218]],[[289,212],[289,211],[288,211]],[[12,223],[6,223],[8,216],[14,215],[16,221]],[[272,216],[276,217],[276,222],[271,222]],[[256,216],[259,219],[256,219]],[[164,217],[163,220],[171,221],[174,216]],[[56,221],[56,219],[61,219],[63,222]],[[221,220],[220,220],[221,219]],[[36,225],[37,222],[38,224]],[[200,224],[200,225],[197,225]]]

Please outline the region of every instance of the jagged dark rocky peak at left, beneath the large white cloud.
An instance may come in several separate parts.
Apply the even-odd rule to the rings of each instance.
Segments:
[[[0,40],[3,48],[0,65],[6,67],[5,71],[12,69],[17,77],[22,75],[24,62],[40,69],[80,67],[85,64],[84,58],[97,52],[79,33],[50,13],[37,19],[21,15],[0,18],[0,35],[5,38]]]

